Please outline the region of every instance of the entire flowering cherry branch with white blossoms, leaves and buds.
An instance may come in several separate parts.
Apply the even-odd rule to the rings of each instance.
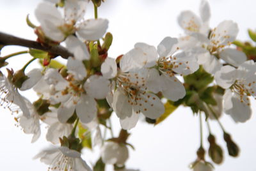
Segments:
[[[100,19],[97,10],[103,0],[47,0],[35,9],[40,26],[27,17],[36,41],[0,33],[0,45],[21,45],[29,50],[0,58],[1,106],[8,108],[24,133],[40,137],[41,125],[47,125],[46,140],[54,144],[35,158],[49,165],[49,170],[131,170],[127,140],[139,117],[149,124],[159,124],[180,105],[190,107],[200,119],[201,142],[195,171],[212,170],[205,160],[202,138],[202,115],[209,128],[208,154],[213,163],[223,161],[223,149],[211,133],[211,120],[223,130],[230,156],[239,155],[239,147],[223,128],[219,118],[230,115],[244,123],[252,115],[250,97],[256,97],[256,48],[236,41],[238,26],[223,20],[209,27],[209,3],[202,0],[200,15],[182,11],[178,17],[184,34],[166,36],[157,47],[136,43],[116,59],[109,57],[113,36],[107,33],[108,20]],[[88,3],[93,3],[94,19],[84,19]],[[249,30],[256,41],[256,33]],[[31,60],[20,70],[8,68],[8,59],[29,53]],[[55,58],[61,56],[67,64]],[[33,62],[42,68],[26,72]],[[14,70],[13,70],[14,69]],[[30,101],[21,91],[33,89],[38,100]],[[102,130],[112,131],[109,119],[120,120],[120,133],[110,138]],[[81,158],[83,148],[100,147],[100,158],[90,166]]]

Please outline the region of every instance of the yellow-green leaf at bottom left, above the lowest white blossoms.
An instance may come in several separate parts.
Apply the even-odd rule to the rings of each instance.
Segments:
[[[84,128],[82,124],[78,124],[78,137],[81,139],[83,147],[92,149],[91,133],[88,129]]]

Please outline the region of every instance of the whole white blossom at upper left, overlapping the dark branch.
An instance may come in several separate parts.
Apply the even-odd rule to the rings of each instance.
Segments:
[[[76,33],[83,40],[99,40],[108,28],[106,19],[83,19],[87,4],[88,0],[65,1],[64,17],[58,8],[47,2],[38,4],[35,10],[45,35],[54,41],[66,39],[68,50],[79,60],[88,60],[90,55],[86,45],[72,34]]]

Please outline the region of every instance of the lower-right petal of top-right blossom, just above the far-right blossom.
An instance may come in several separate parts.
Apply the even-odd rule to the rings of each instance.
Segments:
[[[225,48],[220,52],[220,57],[228,64],[232,64],[233,66],[239,66],[244,63],[247,59],[244,52],[236,50],[234,48]]]

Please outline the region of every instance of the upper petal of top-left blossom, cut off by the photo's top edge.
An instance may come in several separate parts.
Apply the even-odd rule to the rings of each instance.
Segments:
[[[88,1],[66,0],[64,7],[65,19],[69,22],[81,20],[84,17]]]

